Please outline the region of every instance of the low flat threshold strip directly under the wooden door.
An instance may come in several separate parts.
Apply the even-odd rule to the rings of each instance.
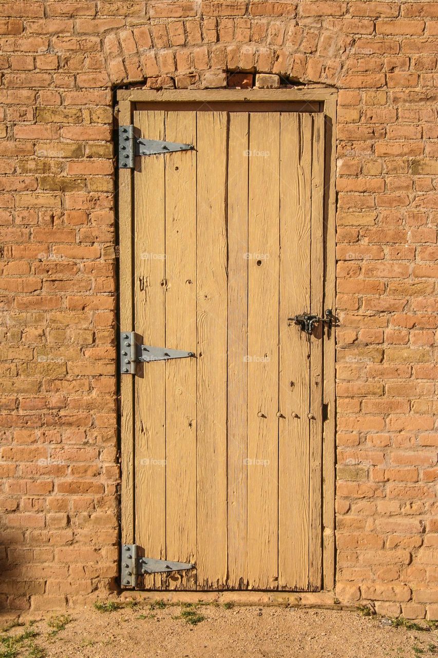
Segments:
[[[126,590],[121,592],[122,601],[144,601],[153,603],[154,601],[164,601],[169,605],[177,603],[205,603],[205,604],[223,604],[233,603],[234,605],[281,605],[284,607],[309,607],[325,608],[335,610],[353,610],[354,606],[345,606],[335,603],[335,594],[333,592],[180,592],[178,590],[147,591],[138,592]]]

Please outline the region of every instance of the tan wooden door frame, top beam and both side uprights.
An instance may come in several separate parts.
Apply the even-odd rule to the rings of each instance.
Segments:
[[[331,87],[295,89],[119,89],[118,124],[132,124],[136,103],[299,103],[299,111],[314,112],[314,103],[326,116],[326,151],[324,173],[324,308],[335,309],[335,157],[337,90]],[[281,107],[283,109],[283,107]],[[280,111],[280,109],[278,109]],[[120,328],[134,328],[134,258],[132,235],[134,222],[134,170],[118,169],[118,229],[120,247],[119,318]],[[324,340],[324,424],[322,433],[322,587],[335,584],[335,331]],[[122,543],[135,542],[134,516],[134,377],[120,378],[120,450],[122,458],[121,522]],[[160,592],[160,595],[164,592]],[[243,593],[242,593],[243,594]],[[271,592],[270,594],[274,594]],[[284,594],[284,592],[282,592]]]

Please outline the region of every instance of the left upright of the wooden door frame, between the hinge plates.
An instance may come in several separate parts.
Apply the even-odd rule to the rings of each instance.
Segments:
[[[119,103],[118,123],[132,121],[130,101]],[[118,170],[118,233],[120,245],[120,329],[132,331],[132,170]],[[134,543],[134,378],[120,379],[120,448],[122,456],[122,542]]]

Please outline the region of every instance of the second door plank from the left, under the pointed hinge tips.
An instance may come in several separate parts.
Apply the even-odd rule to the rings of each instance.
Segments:
[[[166,113],[166,140],[196,147],[196,114]],[[164,156],[166,347],[196,351],[196,151]],[[166,363],[166,557],[196,561],[196,360]],[[195,572],[167,577],[195,588]]]

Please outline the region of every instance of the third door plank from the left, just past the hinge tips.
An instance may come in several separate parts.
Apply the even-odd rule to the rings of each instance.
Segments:
[[[223,588],[227,570],[228,125],[223,112],[197,113],[197,579]]]

